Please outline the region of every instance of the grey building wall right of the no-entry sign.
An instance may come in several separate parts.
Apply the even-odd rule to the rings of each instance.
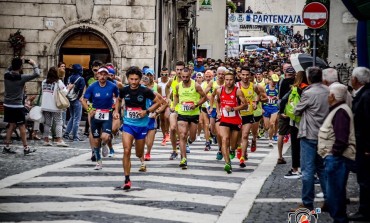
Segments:
[[[328,61],[332,66],[338,63],[351,64],[349,55],[354,45],[348,40],[356,37],[357,20],[351,16],[341,0],[330,1],[330,27]]]

